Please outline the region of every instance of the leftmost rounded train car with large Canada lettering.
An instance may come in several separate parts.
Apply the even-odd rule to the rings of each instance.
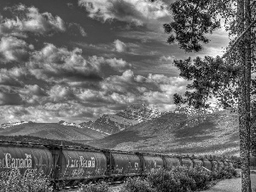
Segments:
[[[53,168],[52,156],[43,145],[32,143],[8,143],[0,145],[0,177],[8,177],[15,169],[21,175],[44,172],[50,176]]]

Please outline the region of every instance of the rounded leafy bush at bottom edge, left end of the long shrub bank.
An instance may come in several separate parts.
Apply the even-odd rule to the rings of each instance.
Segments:
[[[148,182],[141,177],[127,178],[119,192],[157,192]]]

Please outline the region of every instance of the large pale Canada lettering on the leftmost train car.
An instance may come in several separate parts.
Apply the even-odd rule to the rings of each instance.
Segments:
[[[0,160],[0,168],[32,168],[32,155],[25,154],[26,159],[15,159],[11,154],[4,154],[4,158]]]

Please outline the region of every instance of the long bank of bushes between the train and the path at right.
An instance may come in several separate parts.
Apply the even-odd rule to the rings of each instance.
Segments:
[[[183,166],[172,171],[163,169],[151,172],[147,178],[135,177],[125,181],[120,192],[189,192],[209,189],[219,179],[238,177],[234,168],[225,167],[218,172],[208,172],[198,166],[188,169]]]

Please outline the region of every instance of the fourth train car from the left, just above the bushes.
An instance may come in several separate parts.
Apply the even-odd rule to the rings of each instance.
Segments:
[[[138,153],[143,167],[143,175],[155,169],[164,168],[164,160],[160,154]]]

